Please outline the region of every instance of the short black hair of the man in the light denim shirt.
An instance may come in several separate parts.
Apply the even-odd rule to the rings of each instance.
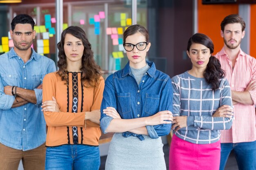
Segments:
[[[35,22],[33,18],[30,15],[27,14],[19,14],[16,15],[16,17],[13,18],[11,21],[11,30],[13,31],[15,29],[16,24],[30,24],[32,29],[34,30]]]

